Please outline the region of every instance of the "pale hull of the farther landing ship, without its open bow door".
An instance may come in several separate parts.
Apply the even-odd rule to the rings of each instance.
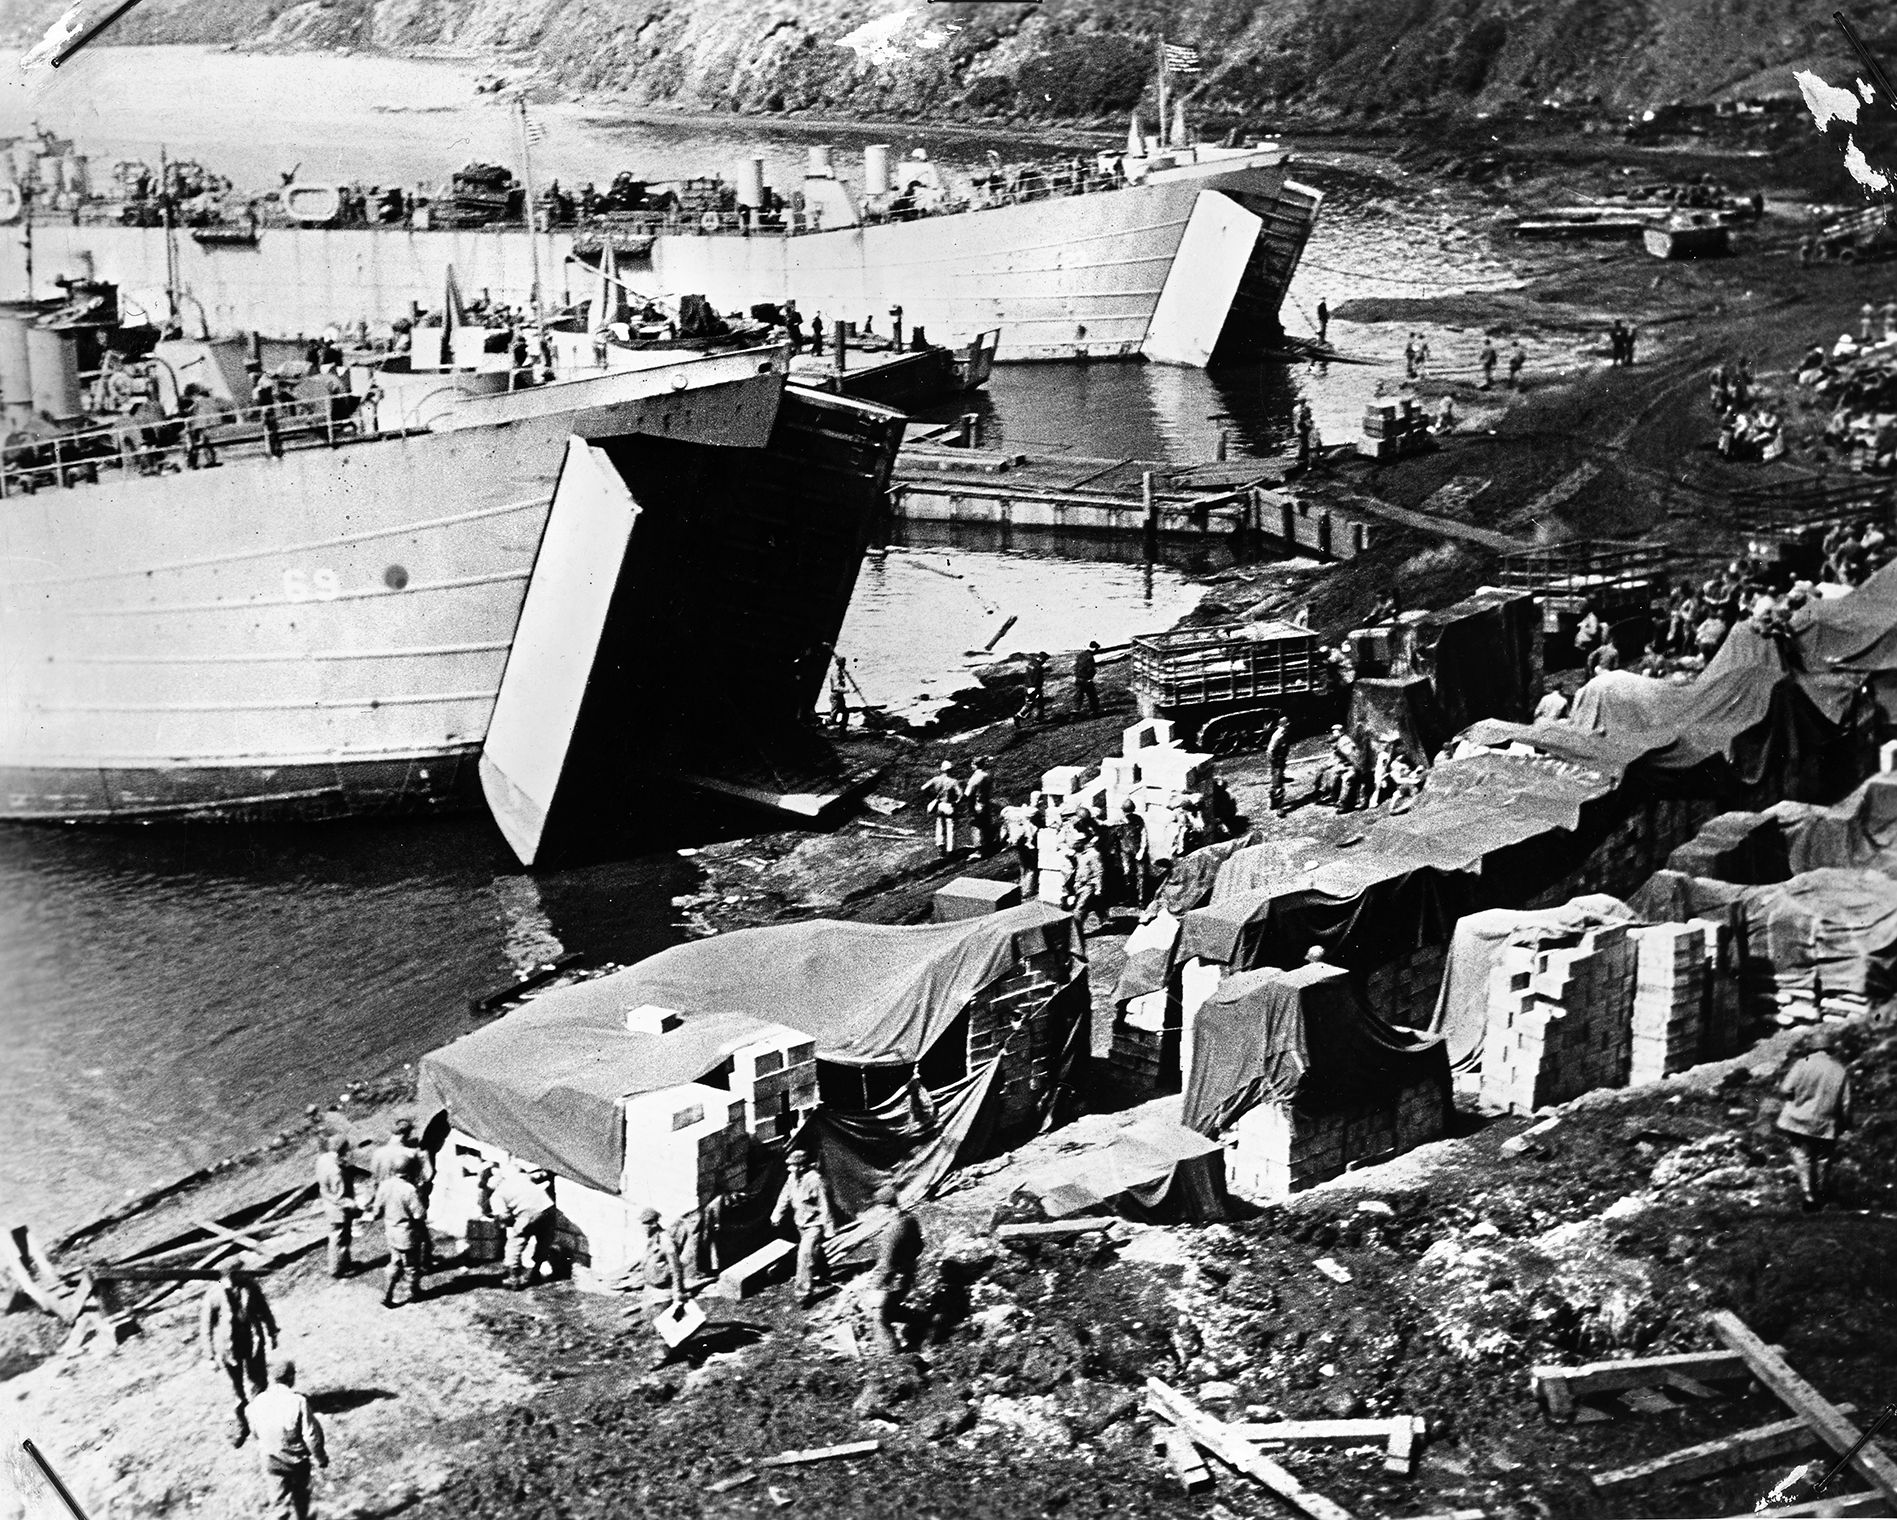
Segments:
[[[1000,328],[998,362],[1136,359],[1169,283],[1199,279],[1178,254],[1201,195],[1280,220],[1305,218],[1305,232],[1317,211],[1315,195],[1286,195],[1280,152],[1206,150],[1206,161],[1159,169],[1123,190],[911,222],[751,237],[668,232],[620,273],[651,294],[704,294],[719,311],[795,300],[806,317],[869,317],[880,326],[901,306],[907,326],[926,328],[937,343],[960,345]],[[57,273],[85,271],[163,309],[159,230],[40,222],[23,241],[30,241],[42,290]],[[1301,249],[1301,235],[1296,243]],[[433,309],[450,266],[463,290],[525,304],[535,254],[552,271],[554,294],[584,300],[590,275],[573,250],[573,233],[525,230],[266,228],[256,247],[180,243],[175,256],[186,311],[203,313],[212,330],[321,332],[359,317],[393,321],[414,306]],[[0,249],[9,296],[27,294],[27,268],[23,247]],[[1220,292],[1216,309],[1203,315],[1210,336],[1195,347],[1269,342],[1292,268],[1296,258],[1288,268],[1267,262],[1246,279],[1237,313],[1244,334],[1222,336],[1233,326],[1233,296]]]

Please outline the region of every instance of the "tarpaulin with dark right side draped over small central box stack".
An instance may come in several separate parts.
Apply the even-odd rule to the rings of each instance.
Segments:
[[[1241,972],[1199,1006],[1182,1120],[1218,1135],[1260,1103],[1315,1110],[1440,1082],[1442,1040],[1377,1019],[1334,966]]]

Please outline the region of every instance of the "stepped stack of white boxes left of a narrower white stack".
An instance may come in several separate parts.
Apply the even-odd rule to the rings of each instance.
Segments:
[[[1482,1101],[1533,1112],[1628,1080],[1637,945],[1626,924],[1563,949],[1510,945],[1489,973]]]

